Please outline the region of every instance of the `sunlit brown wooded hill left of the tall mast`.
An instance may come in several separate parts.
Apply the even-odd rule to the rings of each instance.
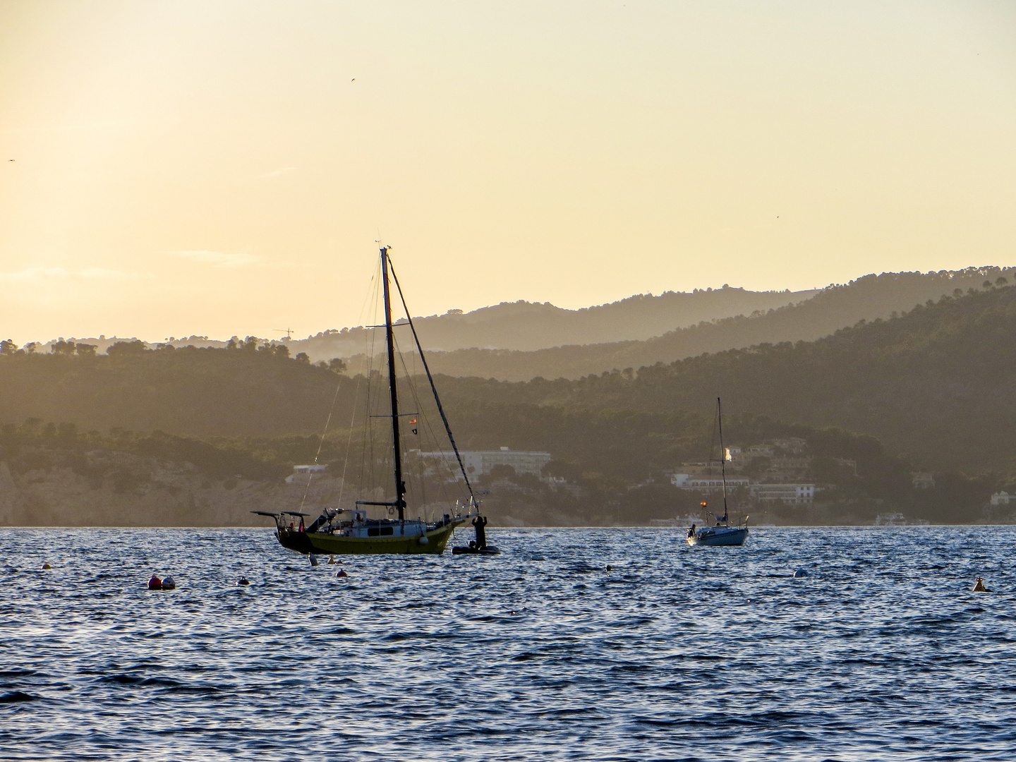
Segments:
[[[339,381],[271,350],[22,353],[0,357],[0,424],[39,418],[82,431],[310,434],[321,430]],[[338,395],[344,399],[344,387]]]

